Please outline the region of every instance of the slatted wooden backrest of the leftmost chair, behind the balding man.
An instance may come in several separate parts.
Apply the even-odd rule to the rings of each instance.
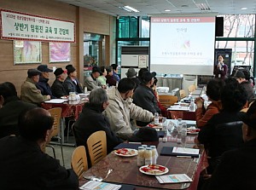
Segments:
[[[61,124],[61,107],[54,107],[48,110],[51,117],[54,118],[53,131],[51,133],[51,137],[58,135],[60,132],[60,124]],[[51,138],[49,138],[50,141]]]

